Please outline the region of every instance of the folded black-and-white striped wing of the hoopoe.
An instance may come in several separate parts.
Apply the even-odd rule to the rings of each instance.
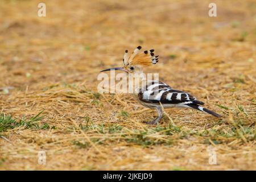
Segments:
[[[139,93],[139,100],[151,104],[199,104],[204,102],[197,101],[196,97],[191,94],[171,88],[171,86],[163,82],[151,82],[147,84],[146,89],[142,89]]]

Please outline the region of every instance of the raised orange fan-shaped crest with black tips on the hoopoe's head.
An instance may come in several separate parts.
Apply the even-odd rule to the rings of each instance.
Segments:
[[[123,56],[123,64],[127,65],[141,65],[148,66],[151,64],[158,63],[158,55],[155,56],[154,49],[139,52],[141,50],[141,46],[138,46],[131,55],[128,55],[128,50],[125,51],[125,55]]]

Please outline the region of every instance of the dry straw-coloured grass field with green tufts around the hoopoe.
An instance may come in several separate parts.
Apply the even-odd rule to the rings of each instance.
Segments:
[[[0,1],[1,170],[255,170],[256,2]],[[154,48],[146,72],[191,92],[215,118],[129,94],[99,94],[125,49]],[[217,164],[209,164],[210,151]],[[46,152],[46,164],[38,152]]]

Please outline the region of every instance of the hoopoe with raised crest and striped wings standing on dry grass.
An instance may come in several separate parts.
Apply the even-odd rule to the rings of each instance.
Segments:
[[[140,52],[141,46],[138,46],[131,55],[128,55],[128,51],[125,51],[123,56],[123,67],[104,69],[101,72],[110,70],[119,70],[134,75],[143,73],[143,68],[158,63],[158,55],[154,54],[154,49]],[[142,84],[143,85],[143,84]],[[139,92],[135,95],[135,99],[143,106],[150,109],[156,109],[158,111],[158,117],[150,122],[146,122],[150,125],[156,125],[163,117],[163,108],[181,107],[192,108],[204,113],[212,114],[215,117],[221,117],[221,115],[214,113],[214,111],[204,108],[204,102],[196,100],[196,97],[187,92],[173,89],[171,86],[158,80],[147,81],[147,83],[139,86]]]

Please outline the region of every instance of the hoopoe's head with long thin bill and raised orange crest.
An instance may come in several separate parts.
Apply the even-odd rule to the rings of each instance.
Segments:
[[[101,72],[120,70],[126,73],[142,73],[144,67],[158,63],[158,56],[155,56],[154,49],[140,52],[141,48],[138,46],[130,55],[128,50],[125,51],[123,67],[104,69]]]

